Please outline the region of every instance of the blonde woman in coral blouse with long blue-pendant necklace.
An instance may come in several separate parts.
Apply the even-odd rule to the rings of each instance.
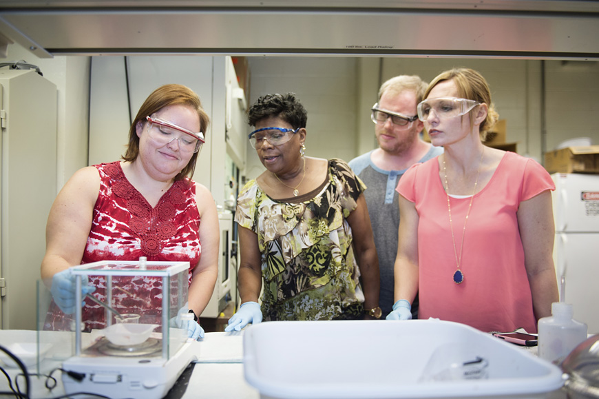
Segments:
[[[483,144],[498,114],[478,72],[439,74],[418,105],[444,153],[401,178],[395,304],[388,320],[465,323],[536,332],[558,300],[549,174],[534,160]]]

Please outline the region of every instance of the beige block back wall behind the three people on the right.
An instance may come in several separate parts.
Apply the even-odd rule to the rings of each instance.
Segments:
[[[478,70],[487,79],[507,142],[542,162],[543,151],[579,136],[599,144],[593,115],[599,110],[599,63],[545,61],[546,132],[542,147],[542,61],[510,59],[252,57],[251,103],[272,92],[295,92],[308,110],[308,154],[349,161],[376,146],[370,107],[379,85],[398,74],[430,81],[453,67]],[[353,105],[350,105],[353,101]],[[353,115],[347,111],[352,109]],[[315,136],[317,136],[315,138]],[[264,167],[249,147],[247,178]]]

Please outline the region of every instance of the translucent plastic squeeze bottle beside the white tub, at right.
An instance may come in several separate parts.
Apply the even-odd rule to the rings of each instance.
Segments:
[[[572,305],[551,304],[551,316],[538,320],[538,356],[549,362],[559,362],[580,342],[587,339],[587,325],[572,318]]]

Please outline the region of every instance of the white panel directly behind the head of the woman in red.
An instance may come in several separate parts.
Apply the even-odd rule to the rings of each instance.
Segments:
[[[221,69],[224,69],[224,57],[218,61],[220,63],[217,65],[222,65]],[[201,56],[127,57],[127,93],[125,57],[93,57],[90,165],[120,160],[129,141],[131,121],[143,101],[160,85],[178,83],[186,85],[200,96],[202,106],[211,120],[209,131],[206,132],[207,142],[198,156],[193,178],[206,187],[212,187],[213,175],[216,172],[218,176],[224,173],[224,166],[213,170],[211,161],[211,156],[217,151],[213,147],[217,141],[222,141],[218,151],[224,154],[224,94],[222,98],[216,98],[218,93],[213,92],[213,79],[217,79],[213,73],[215,62],[214,57]],[[224,93],[224,70],[221,74],[221,91]],[[214,103],[222,106],[213,106]],[[220,204],[224,201],[223,195],[218,192],[220,199],[217,201]]]

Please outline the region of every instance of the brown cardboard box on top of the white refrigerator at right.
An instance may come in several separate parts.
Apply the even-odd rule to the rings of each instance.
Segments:
[[[547,152],[545,169],[549,173],[599,173],[599,145]]]

